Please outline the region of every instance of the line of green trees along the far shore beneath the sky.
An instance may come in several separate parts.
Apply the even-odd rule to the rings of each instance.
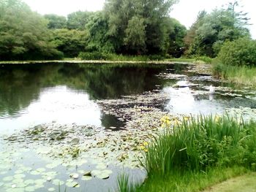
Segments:
[[[80,52],[123,55],[206,55],[250,38],[238,1],[198,14],[187,30],[169,13],[176,0],[107,0],[102,11],[66,17],[39,15],[20,0],[0,0],[0,59],[77,57]],[[184,13],[186,14],[186,13]]]

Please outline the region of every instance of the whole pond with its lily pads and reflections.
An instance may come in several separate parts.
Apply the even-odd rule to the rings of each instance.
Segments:
[[[141,146],[163,115],[255,109],[255,90],[190,64],[1,65],[1,191],[115,191],[122,172],[145,179]]]

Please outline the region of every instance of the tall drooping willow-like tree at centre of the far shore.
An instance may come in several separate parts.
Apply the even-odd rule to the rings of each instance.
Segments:
[[[116,52],[164,53],[164,18],[174,3],[176,0],[107,0],[108,35],[113,38]]]

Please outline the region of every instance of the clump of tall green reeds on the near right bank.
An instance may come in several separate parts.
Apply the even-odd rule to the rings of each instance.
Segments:
[[[148,174],[206,171],[256,163],[256,123],[226,115],[183,120],[154,138],[145,154]],[[253,155],[255,153],[255,155]]]

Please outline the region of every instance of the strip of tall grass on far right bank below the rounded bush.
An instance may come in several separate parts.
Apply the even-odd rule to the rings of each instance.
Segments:
[[[214,64],[214,75],[238,86],[256,88],[256,67]]]

